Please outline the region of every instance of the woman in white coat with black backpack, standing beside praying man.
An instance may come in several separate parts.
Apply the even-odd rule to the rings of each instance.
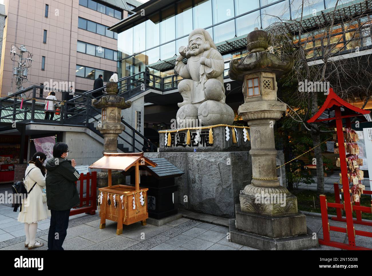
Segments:
[[[24,184],[29,194],[27,199],[22,200],[22,211],[18,214],[18,221],[25,223],[25,247],[28,247],[28,249],[44,245],[44,243],[36,241],[38,222],[51,215],[47,203],[43,203],[42,199],[43,189],[45,188],[45,166],[42,164],[45,159],[47,159],[47,156],[44,153],[36,152],[31,161],[28,162],[29,165],[25,172]],[[36,185],[32,188],[35,183]]]

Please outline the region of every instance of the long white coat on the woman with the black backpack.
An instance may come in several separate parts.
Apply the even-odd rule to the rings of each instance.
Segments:
[[[33,169],[32,169],[33,168]],[[32,171],[28,174],[28,172]],[[42,190],[45,188],[45,177],[42,175],[41,170],[35,164],[29,164],[26,168],[25,186],[29,191],[33,184],[32,191],[28,194],[27,199],[22,200],[22,211],[18,214],[18,221],[23,223],[34,223],[47,219],[50,216],[47,203],[43,203]]]

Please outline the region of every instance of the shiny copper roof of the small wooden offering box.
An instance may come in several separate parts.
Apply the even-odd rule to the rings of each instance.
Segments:
[[[137,162],[139,165],[153,166],[157,164],[146,158],[143,152],[139,153],[103,153],[103,157],[94,162],[89,168],[92,169],[115,169],[127,171]]]

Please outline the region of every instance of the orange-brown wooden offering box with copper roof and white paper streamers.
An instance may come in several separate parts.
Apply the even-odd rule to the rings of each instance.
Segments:
[[[156,164],[140,153],[103,153],[103,157],[94,162],[89,168],[108,170],[108,187],[99,188],[98,204],[101,223],[99,228],[103,229],[106,219],[118,222],[116,234],[123,232],[123,224],[129,225],[141,221],[146,225],[147,191],[148,188],[140,187],[140,165],[153,166]],[[127,171],[135,167],[135,185],[112,186],[112,170]]]

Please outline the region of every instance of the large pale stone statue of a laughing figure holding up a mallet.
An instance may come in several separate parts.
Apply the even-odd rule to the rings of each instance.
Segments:
[[[178,91],[183,102],[178,106],[177,123],[191,127],[199,118],[203,126],[232,124],[234,111],[225,104],[224,60],[211,35],[195,29],[187,47],[180,47],[174,70],[183,78]],[[187,64],[182,62],[187,58]]]

